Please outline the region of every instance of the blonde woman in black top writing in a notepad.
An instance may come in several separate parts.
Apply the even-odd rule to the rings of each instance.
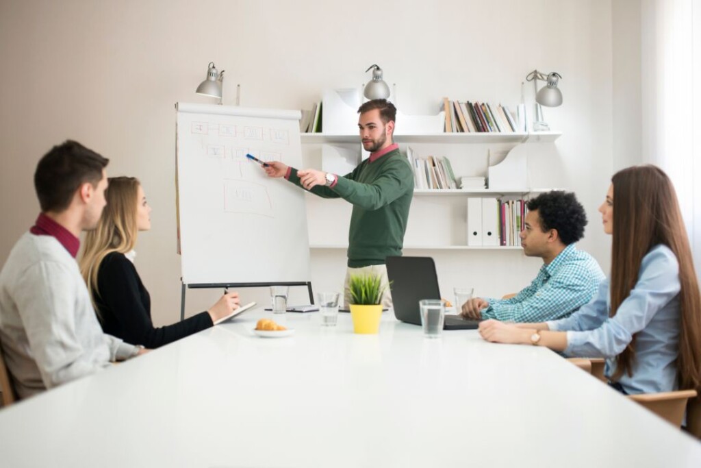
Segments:
[[[97,229],[88,232],[80,261],[104,333],[157,348],[209,328],[238,308],[238,293],[228,293],[206,312],[155,328],[149,291],[133,263],[138,232],[151,229],[151,207],[139,180],[130,177],[110,178],[105,198],[107,207]]]

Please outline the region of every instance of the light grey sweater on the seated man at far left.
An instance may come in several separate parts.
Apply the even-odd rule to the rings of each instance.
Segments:
[[[53,236],[29,232],[0,272],[0,344],[20,398],[135,352],[102,333],[71,254]]]

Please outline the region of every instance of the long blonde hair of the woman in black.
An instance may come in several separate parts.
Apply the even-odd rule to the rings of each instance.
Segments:
[[[80,260],[81,274],[86,281],[90,298],[95,305],[97,273],[102,260],[112,252],[127,253],[136,245],[139,180],[133,177],[108,179],[104,192],[107,206],[102,210],[97,229],[86,235]],[[95,307],[97,311],[97,307]],[[98,313],[98,316],[100,314]]]

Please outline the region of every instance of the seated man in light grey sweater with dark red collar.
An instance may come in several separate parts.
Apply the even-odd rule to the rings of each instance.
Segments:
[[[105,206],[107,163],[67,141],[36,166],[41,214],[0,272],[0,345],[19,398],[144,352],[102,333],[75,260]]]

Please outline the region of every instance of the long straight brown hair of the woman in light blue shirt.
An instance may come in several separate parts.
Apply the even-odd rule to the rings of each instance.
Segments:
[[[614,316],[637,282],[643,257],[667,246],[679,262],[679,384],[701,389],[701,294],[689,239],[672,181],[656,166],[633,166],[613,175],[611,312]],[[632,375],[635,336],[616,358],[613,380]]]

